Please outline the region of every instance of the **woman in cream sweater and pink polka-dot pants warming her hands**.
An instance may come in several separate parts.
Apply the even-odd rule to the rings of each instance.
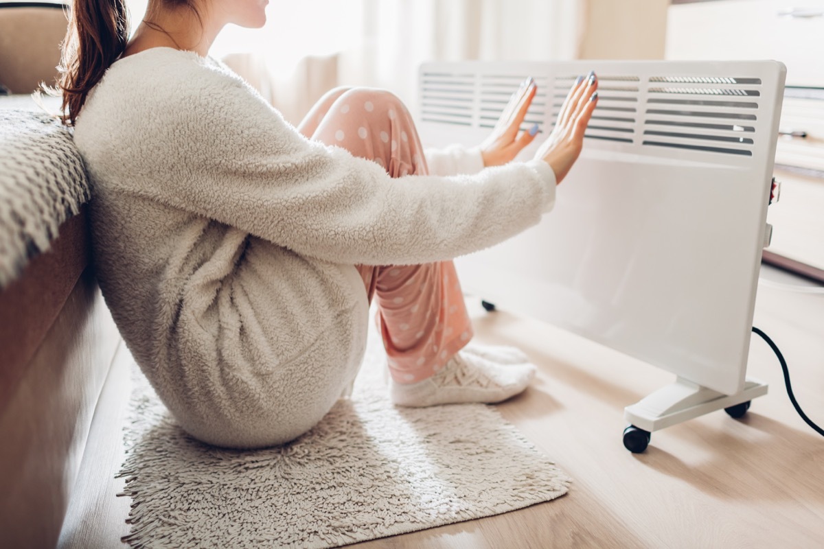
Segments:
[[[550,209],[594,75],[527,163],[480,170],[531,141],[516,137],[531,82],[481,152],[425,158],[410,114],[376,90],[332,91],[296,130],[208,58],[227,23],[262,26],[265,3],[152,0],[129,40],[122,0],[74,2],[65,120],[93,184],[97,277],[138,365],[195,438],[282,444],[352,384],[374,296],[397,404],[520,393],[535,367],[519,351],[466,347],[450,259]],[[428,161],[480,173],[434,177]]]

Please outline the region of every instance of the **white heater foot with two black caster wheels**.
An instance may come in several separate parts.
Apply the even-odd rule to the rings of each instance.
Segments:
[[[753,378],[747,378],[740,393],[723,394],[679,377],[675,383],[624,408],[624,418],[630,423],[624,431],[624,445],[630,452],[638,454],[647,448],[650,433],[654,430],[722,408],[730,416],[741,417],[753,398],[766,393],[767,385]]]

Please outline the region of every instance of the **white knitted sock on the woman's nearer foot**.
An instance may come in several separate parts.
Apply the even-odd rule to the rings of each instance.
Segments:
[[[424,407],[462,402],[501,402],[521,393],[535,377],[535,365],[498,365],[459,351],[442,370],[414,384],[391,381],[392,402]]]

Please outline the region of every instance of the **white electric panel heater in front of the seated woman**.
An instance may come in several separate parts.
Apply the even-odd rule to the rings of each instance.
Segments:
[[[538,91],[523,129],[537,123],[546,137],[569,87],[590,70],[597,109],[554,210],[521,235],[458,258],[461,283],[676,374],[675,388],[636,405],[648,420],[627,409],[645,430],[683,421],[685,406],[696,416],[706,401],[718,409],[765,393],[746,381],[747,351],[770,238],[784,65],[427,63],[419,74],[424,145],[479,144],[530,76]]]

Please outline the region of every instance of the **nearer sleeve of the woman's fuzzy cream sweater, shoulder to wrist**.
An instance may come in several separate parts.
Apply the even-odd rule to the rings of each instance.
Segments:
[[[134,192],[297,254],[353,264],[454,258],[536,224],[555,200],[542,162],[391,179],[375,162],[302,137],[239,77],[206,69],[198,78],[155,105],[151,134],[133,144],[155,174]]]

